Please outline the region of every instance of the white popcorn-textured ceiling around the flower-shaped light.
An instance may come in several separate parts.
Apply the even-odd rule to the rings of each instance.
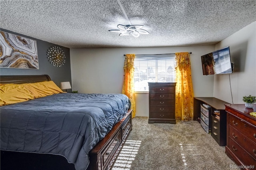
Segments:
[[[0,0],[0,28],[69,48],[216,44],[256,21],[255,0]],[[144,25],[149,35],[108,30]]]

